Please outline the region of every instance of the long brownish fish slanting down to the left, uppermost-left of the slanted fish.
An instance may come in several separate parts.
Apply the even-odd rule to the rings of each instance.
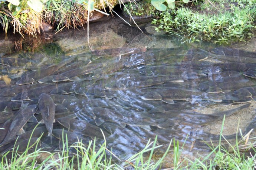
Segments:
[[[18,85],[30,84],[46,76],[53,75],[55,74],[56,71],[58,71],[58,69],[68,64],[69,62],[73,61],[75,58],[76,57],[71,57],[58,64],[53,64],[46,68],[42,68],[37,71],[33,71],[31,73],[25,74],[19,79],[19,81],[16,82],[16,84]]]

